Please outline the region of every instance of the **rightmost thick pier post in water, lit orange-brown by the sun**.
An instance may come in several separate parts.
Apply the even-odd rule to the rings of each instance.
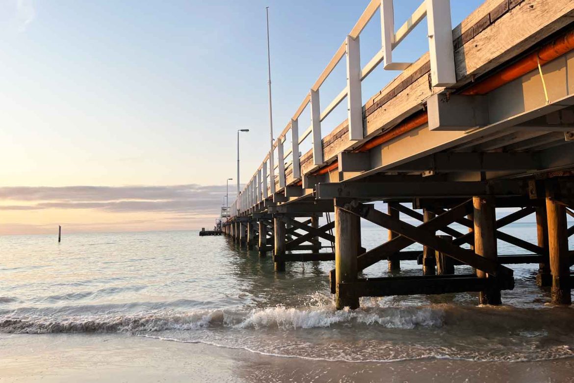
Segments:
[[[568,227],[566,207],[554,202],[554,185],[546,184],[546,219],[548,220],[548,250],[552,272],[553,304],[571,304],[570,264],[568,256]]]

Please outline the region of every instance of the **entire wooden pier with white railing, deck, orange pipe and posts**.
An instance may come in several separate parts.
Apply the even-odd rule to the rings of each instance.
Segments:
[[[224,234],[262,257],[272,253],[276,272],[285,262],[334,260],[338,308],[356,308],[362,296],[452,292],[501,304],[501,291],[514,288],[509,265],[521,263],[537,264],[536,282],[550,287],[552,303],[570,304],[574,1],[487,0],[454,29],[450,14],[448,0],[425,0],[395,28],[393,1],[372,0],[232,204]],[[425,17],[429,52],[393,62],[392,49]],[[383,44],[361,67],[368,22],[381,25]],[[320,99],[341,60],[347,83],[335,99]],[[362,100],[361,82],[379,65],[402,72]],[[346,121],[322,126],[344,99]],[[300,130],[306,108],[311,125]],[[305,140],[312,149],[299,155]],[[377,210],[377,201],[388,210]],[[497,219],[497,208],[517,210]],[[529,215],[536,245],[501,230]],[[366,251],[361,219],[389,237]],[[321,252],[320,238],[332,249]],[[499,255],[498,240],[525,253]],[[413,243],[423,250],[404,250]],[[418,260],[420,276],[401,276],[404,260]],[[381,261],[393,276],[359,278]],[[457,274],[457,265],[476,272]]]

